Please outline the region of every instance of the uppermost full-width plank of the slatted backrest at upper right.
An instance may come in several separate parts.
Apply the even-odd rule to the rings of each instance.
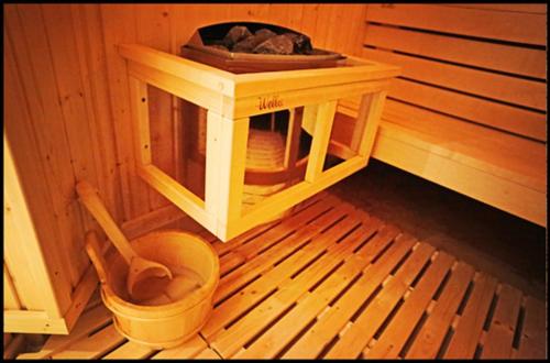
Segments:
[[[482,9],[441,6],[392,4],[369,7],[369,21],[431,31],[495,38],[501,41],[546,44],[544,15],[498,12]]]

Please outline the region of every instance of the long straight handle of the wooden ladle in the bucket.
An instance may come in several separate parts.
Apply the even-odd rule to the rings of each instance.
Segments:
[[[76,185],[76,191],[80,197],[80,201],[86,206],[94,218],[96,218],[99,226],[101,226],[107,233],[107,237],[109,237],[117,250],[122,254],[122,257],[127,261],[128,265],[130,265],[138,254],[134,252],[117,223],[112,220],[111,215],[109,215],[103,202],[99,199],[96,189],[88,182],[81,180]]]

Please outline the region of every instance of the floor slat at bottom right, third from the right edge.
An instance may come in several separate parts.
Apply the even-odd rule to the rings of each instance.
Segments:
[[[472,294],[443,354],[446,359],[474,356],[497,282],[492,276],[480,274],[474,283]]]

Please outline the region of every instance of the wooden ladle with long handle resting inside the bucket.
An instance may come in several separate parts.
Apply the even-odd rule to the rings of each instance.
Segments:
[[[88,182],[79,182],[76,190],[80,201],[98,221],[99,226],[107,233],[107,237],[114,244],[122,257],[128,263],[129,271],[127,277],[127,290],[134,299],[142,300],[153,297],[158,289],[140,288],[139,285],[151,285],[151,277],[173,278],[173,274],[165,265],[140,256],[133,249],[117,223],[112,220],[103,202],[99,199],[96,189]]]

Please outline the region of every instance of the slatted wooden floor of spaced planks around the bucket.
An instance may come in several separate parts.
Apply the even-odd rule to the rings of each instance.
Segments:
[[[543,359],[546,304],[321,193],[228,243],[207,324],[178,348],[122,338],[102,304],[51,359]]]

